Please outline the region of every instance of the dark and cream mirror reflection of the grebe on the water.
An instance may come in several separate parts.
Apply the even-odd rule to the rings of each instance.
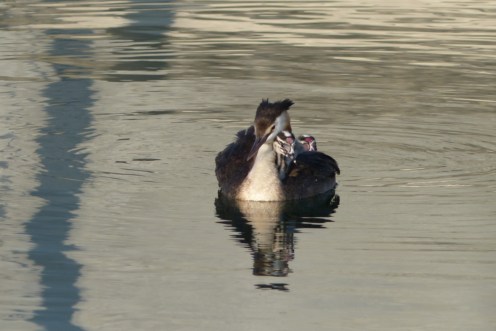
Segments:
[[[294,259],[295,233],[301,228],[325,228],[336,212],[339,196],[334,190],[318,196],[286,201],[233,200],[219,194],[216,216],[237,234],[253,256],[253,275],[287,276]]]

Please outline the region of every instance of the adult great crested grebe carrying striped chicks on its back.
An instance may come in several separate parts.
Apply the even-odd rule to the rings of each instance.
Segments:
[[[282,131],[292,132],[288,110],[293,104],[289,99],[262,100],[254,125],[239,131],[236,141],[217,155],[215,175],[222,194],[239,200],[282,201],[309,198],[336,186],[337,162],[317,151],[296,155],[281,179],[274,141]],[[287,143],[289,136],[279,136],[283,137]]]

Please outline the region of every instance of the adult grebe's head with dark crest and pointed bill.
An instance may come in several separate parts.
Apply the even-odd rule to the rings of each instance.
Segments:
[[[263,144],[271,144],[283,130],[291,132],[291,123],[288,114],[294,104],[289,99],[270,103],[262,100],[255,114],[255,143],[248,155],[248,160],[255,155]]]

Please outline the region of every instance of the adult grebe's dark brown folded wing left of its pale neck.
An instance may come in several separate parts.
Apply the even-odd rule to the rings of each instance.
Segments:
[[[221,192],[235,197],[243,180],[253,166],[254,158],[248,159],[248,154],[255,142],[255,127],[241,130],[235,142],[217,154],[215,158],[215,175],[219,181]]]

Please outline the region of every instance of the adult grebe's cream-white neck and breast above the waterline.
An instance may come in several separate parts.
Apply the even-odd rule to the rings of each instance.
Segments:
[[[253,167],[241,185],[237,199],[253,201],[284,200],[276,153],[272,144],[263,144],[255,157]]]

